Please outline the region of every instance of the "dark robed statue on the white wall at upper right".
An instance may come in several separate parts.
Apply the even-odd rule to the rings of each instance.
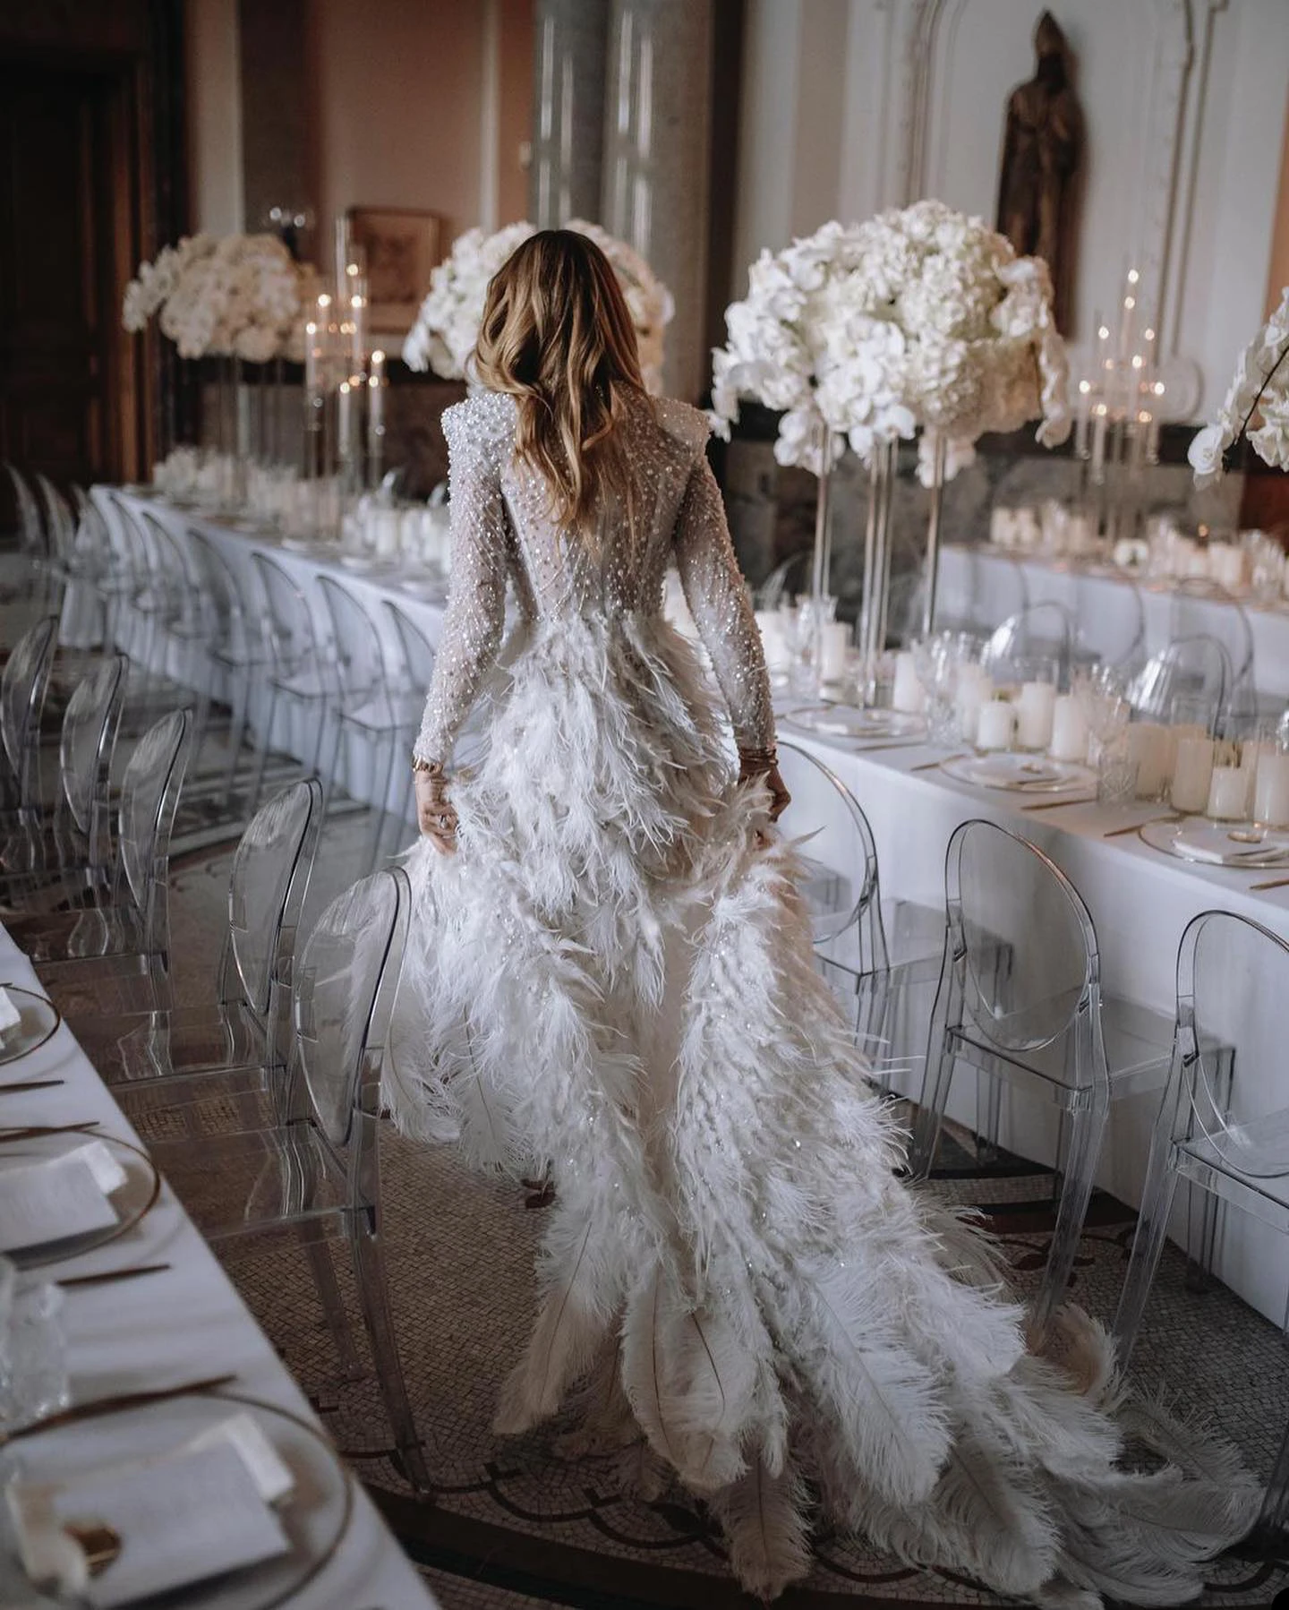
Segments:
[[[998,180],[998,230],[1019,253],[1043,258],[1056,287],[1056,324],[1070,327],[1073,180],[1083,156],[1083,113],[1070,85],[1069,47],[1044,11],[1035,27],[1038,68],[1007,98]]]

